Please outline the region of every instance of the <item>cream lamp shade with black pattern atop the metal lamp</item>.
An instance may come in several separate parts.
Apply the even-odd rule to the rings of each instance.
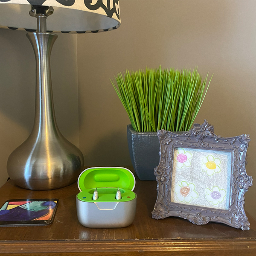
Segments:
[[[97,33],[121,25],[119,0],[0,0],[0,28],[36,31],[30,5],[54,8],[47,18],[48,32]]]

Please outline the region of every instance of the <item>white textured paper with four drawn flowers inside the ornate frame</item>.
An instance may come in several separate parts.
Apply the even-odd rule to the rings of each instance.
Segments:
[[[175,148],[171,201],[229,209],[231,152]]]

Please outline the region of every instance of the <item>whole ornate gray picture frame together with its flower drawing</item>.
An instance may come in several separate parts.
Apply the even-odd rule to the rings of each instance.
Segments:
[[[154,169],[157,201],[152,218],[215,221],[249,230],[244,193],[252,186],[245,165],[249,135],[223,138],[204,120],[189,132],[157,132],[160,163]]]

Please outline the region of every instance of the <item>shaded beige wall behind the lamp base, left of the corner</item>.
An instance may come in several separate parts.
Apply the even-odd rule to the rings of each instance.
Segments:
[[[62,134],[78,137],[76,35],[59,35],[52,49],[55,113]],[[26,32],[0,29],[0,186],[9,154],[32,130],[35,114],[35,57]]]

